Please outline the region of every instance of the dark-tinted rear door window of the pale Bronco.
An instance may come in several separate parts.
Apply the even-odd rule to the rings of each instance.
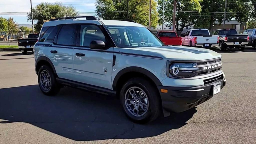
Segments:
[[[76,25],[63,25],[57,38],[59,45],[76,45]]]

